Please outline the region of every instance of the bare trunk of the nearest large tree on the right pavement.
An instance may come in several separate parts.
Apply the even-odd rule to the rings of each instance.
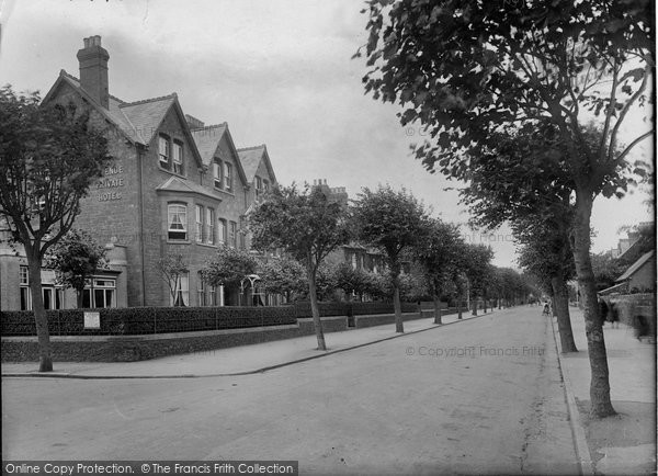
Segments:
[[[576,197],[576,217],[571,248],[576,261],[578,285],[582,296],[585,314],[585,333],[591,367],[590,416],[604,418],[616,415],[610,401],[610,381],[608,355],[603,327],[599,319],[599,304],[594,284],[594,273],[590,259],[590,217],[593,195],[578,190]]]

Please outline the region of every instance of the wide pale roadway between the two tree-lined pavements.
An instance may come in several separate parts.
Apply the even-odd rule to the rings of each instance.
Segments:
[[[300,474],[577,474],[536,307],[284,366],[2,379],[3,460],[298,460]]]

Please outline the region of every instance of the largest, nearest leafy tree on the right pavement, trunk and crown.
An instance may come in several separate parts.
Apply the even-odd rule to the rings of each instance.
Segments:
[[[590,261],[594,199],[622,196],[631,151],[653,125],[625,144],[622,125],[649,102],[655,70],[655,3],[650,0],[513,5],[477,0],[370,0],[365,89],[399,102],[401,123],[428,140],[416,147],[424,166],[462,179],[468,157],[494,133],[523,125],[557,127],[567,149],[575,216],[570,241],[585,304],[592,381],[591,415],[614,415],[608,361]],[[358,53],[360,54],[360,53]],[[646,110],[650,106],[646,106]],[[592,122],[598,139],[587,134]]]

